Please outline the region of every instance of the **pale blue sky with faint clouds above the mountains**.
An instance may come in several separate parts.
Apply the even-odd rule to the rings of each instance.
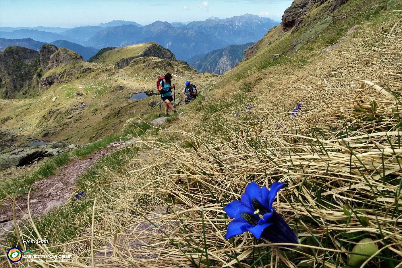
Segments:
[[[255,14],[281,21],[291,0],[0,0],[0,27],[99,25],[113,20],[204,21]]]

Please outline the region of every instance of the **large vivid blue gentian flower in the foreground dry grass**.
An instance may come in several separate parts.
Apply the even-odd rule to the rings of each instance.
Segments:
[[[241,200],[227,204],[225,212],[234,220],[229,223],[226,239],[249,231],[257,239],[262,238],[271,243],[298,244],[299,239],[295,233],[272,206],[283,184],[285,183],[274,182],[271,190],[268,190],[265,186],[260,188],[253,181],[247,185]],[[283,247],[295,248],[291,245]]]

